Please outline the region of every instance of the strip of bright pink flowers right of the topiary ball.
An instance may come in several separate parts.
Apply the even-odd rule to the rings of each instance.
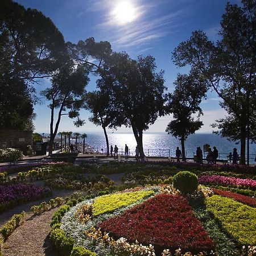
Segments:
[[[226,177],[220,175],[203,175],[199,178],[200,184],[221,184],[225,187],[228,185],[236,185],[242,187],[248,187],[251,189],[256,189],[256,180],[252,179],[239,179],[236,177]]]

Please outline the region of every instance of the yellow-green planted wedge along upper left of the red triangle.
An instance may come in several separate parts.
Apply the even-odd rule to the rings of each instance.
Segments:
[[[98,197],[93,204],[93,216],[113,212],[113,210],[125,207],[136,201],[154,195],[154,191],[127,192]]]

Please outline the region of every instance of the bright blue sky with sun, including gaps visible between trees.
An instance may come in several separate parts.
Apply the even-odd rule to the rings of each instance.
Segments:
[[[225,12],[225,0],[19,0],[26,8],[38,9],[51,18],[64,35],[65,41],[77,43],[94,37],[96,41],[106,40],[114,51],[126,51],[136,59],[138,55],[152,55],[156,65],[164,69],[164,79],[169,92],[174,89],[173,81],[177,73],[188,72],[187,68],[175,67],[171,52],[182,41],[187,40],[194,30],[203,30],[210,40],[217,40],[221,15]],[[241,4],[240,0],[230,3]],[[96,89],[96,77],[91,77],[87,90]],[[41,80],[36,85],[39,93],[50,84]],[[210,124],[224,117],[225,112],[218,105],[219,99],[214,92],[201,104],[204,126],[200,133],[210,133]],[[35,106],[35,131],[49,131],[50,112],[47,102]],[[59,131],[102,131],[88,121],[89,112],[81,112],[86,124],[76,128],[72,119],[61,119]],[[161,117],[150,126],[148,132],[164,132],[171,116]],[[131,132],[121,127],[117,132]]]

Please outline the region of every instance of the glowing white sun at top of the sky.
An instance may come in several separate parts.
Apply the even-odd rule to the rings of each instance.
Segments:
[[[133,22],[138,14],[130,1],[118,1],[112,12],[115,22],[119,24],[125,24]]]

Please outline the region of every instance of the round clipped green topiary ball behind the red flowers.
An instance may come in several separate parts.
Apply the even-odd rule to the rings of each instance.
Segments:
[[[191,194],[198,187],[197,176],[188,171],[181,171],[175,174],[172,183],[174,184],[174,188],[179,189],[184,194]]]

